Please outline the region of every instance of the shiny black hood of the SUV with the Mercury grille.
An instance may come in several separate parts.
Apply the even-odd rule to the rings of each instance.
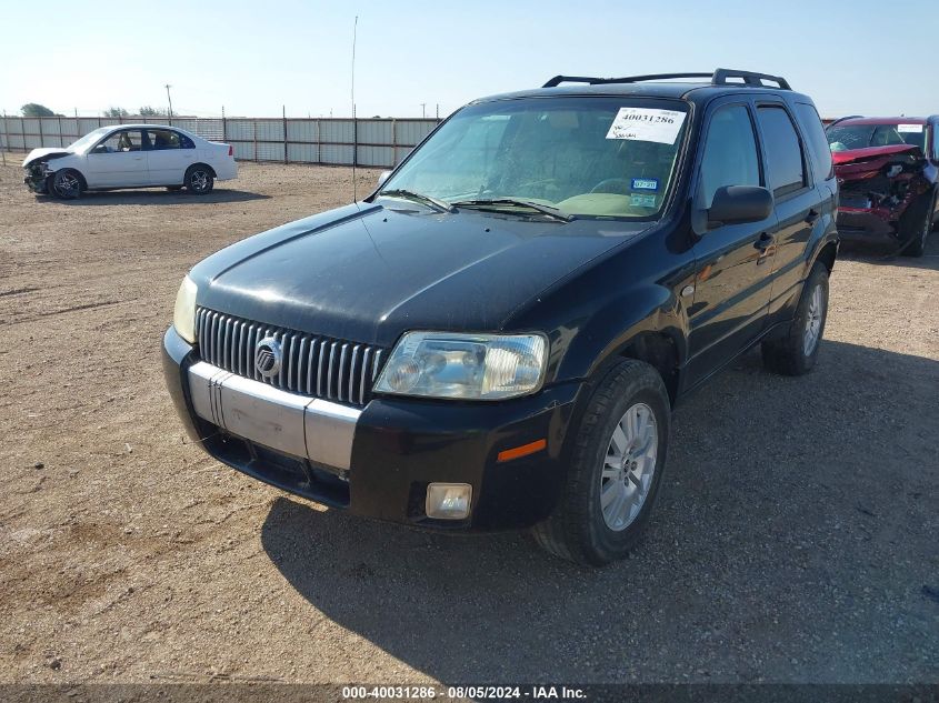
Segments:
[[[390,347],[406,330],[499,330],[650,223],[434,213],[360,203],[258,234],[190,273],[197,303]]]

